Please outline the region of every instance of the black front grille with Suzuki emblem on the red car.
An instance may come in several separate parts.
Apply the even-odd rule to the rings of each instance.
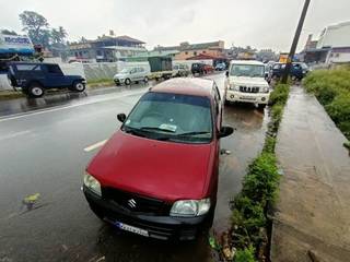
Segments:
[[[144,215],[166,216],[170,214],[172,207],[171,204],[162,200],[125,192],[114,188],[103,188],[102,196],[118,207]]]

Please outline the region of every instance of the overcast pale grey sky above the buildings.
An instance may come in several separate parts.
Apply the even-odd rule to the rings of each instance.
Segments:
[[[156,45],[222,39],[225,46],[287,51],[304,0],[0,0],[0,28],[20,32],[24,10],[43,14],[50,26],[63,26],[69,40],[114,29]],[[350,20],[349,0],[312,0],[302,33],[317,37],[328,24]]]

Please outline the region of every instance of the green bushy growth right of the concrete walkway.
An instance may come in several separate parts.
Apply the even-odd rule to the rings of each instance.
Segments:
[[[350,140],[350,67],[317,70],[303,81],[305,90],[315,94],[329,117]]]

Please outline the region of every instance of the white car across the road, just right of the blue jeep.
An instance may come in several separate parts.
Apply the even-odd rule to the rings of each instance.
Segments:
[[[133,67],[125,68],[119,73],[115,74],[113,80],[116,85],[130,85],[131,83],[143,81],[149,82],[150,67]]]

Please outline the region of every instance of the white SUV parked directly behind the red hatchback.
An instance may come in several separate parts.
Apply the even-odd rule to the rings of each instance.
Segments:
[[[231,61],[226,72],[224,102],[253,103],[265,107],[270,86],[265,80],[265,64],[259,61]]]

